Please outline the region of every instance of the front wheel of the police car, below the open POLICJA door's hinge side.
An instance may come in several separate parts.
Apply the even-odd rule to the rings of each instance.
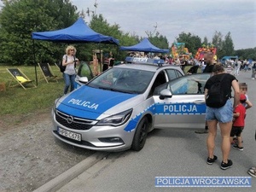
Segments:
[[[148,119],[143,117],[143,119],[137,125],[135,135],[131,144],[131,149],[135,151],[141,150],[147,139],[148,135]]]

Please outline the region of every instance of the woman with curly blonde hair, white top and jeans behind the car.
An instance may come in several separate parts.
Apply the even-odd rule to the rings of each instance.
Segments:
[[[76,69],[75,66],[79,65],[79,59],[75,57],[77,49],[72,45],[67,46],[66,54],[63,55],[61,65],[65,68],[63,73],[63,79],[65,81],[64,95],[67,94],[67,91],[70,87],[70,92],[74,90],[74,83],[76,78]]]

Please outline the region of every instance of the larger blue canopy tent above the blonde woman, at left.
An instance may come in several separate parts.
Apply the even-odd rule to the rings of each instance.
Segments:
[[[32,39],[69,44],[97,43],[119,45],[118,39],[102,35],[90,29],[90,27],[85,24],[83,18],[81,17],[72,26],[68,26],[65,29],[49,32],[32,32]],[[37,79],[36,66],[35,61],[35,72]]]

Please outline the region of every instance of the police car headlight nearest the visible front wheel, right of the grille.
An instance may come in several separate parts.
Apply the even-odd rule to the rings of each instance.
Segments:
[[[131,117],[132,108],[122,113],[117,113],[107,118],[100,120],[96,125],[113,125],[119,126],[125,124]]]

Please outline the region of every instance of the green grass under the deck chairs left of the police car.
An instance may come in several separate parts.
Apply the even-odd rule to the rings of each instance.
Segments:
[[[20,85],[9,87],[10,80],[15,79],[7,71],[6,68],[19,68],[22,73],[25,73],[29,79],[36,84],[35,67],[15,67],[15,66],[0,66],[0,84],[4,83],[6,91],[0,91],[0,115],[23,115],[45,111],[52,108],[57,97],[63,94],[64,80],[59,69],[51,66],[55,75],[60,78],[58,82],[50,81],[49,84],[43,78],[43,74],[37,66],[38,86],[37,88],[24,90]],[[29,85],[29,84],[27,84]]]

